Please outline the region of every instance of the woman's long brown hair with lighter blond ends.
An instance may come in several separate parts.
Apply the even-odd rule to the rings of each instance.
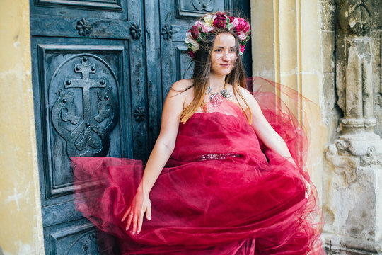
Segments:
[[[209,13],[210,15],[214,15],[215,13]],[[202,17],[204,18],[204,17]],[[202,18],[200,20],[202,20]],[[248,21],[247,21],[248,22]],[[248,22],[249,23],[249,22]],[[209,32],[206,38],[202,38],[199,36],[199,50],[195,52],[195,57],[192,58],[194,62],[194,74],[192,75],[193,84],[185,89],[194,88],[194,98],[190,105],[188,105],[185,109],[183,109],[180,115],[180,121],[184,124],[198,108],[203,107],[204,95],[206,94],[208,84],[209,74],[211,72],[211,53],[214,47],[214,42],[216,36],[221,33],[229,33],[233,35],[236,39],[236,60],[233,64],[233,68],[231,72],[226,76],[225,84],[231,84],[233,88],[233,95],[235,96],[238,104],[245,114],[245,117],[248,120],[248,123],[252,122],[252,112],[250,111],[250,107],[248,103],[245,101],[245,98],[241,94],[239,86],[245,88],[245,70],[243,68],[243,62],[241,60],[240,53],[240,43],[238,39],[238,35],[233,32],[233,30],[228,30],[226,28],[214,28],[213,31]],[[250,115],[245,112],[243,106],[241,105],[238,97],[245,103],[247,106]]]

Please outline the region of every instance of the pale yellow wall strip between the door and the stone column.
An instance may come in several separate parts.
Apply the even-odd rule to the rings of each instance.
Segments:
[[[323,123],[323,60],[320,48],[320,2],[251,0],[253,74],[280,82],[313,101],[295,109],[311,128],[307,170],[322,198],[323,151],[328,128]],[[283,98],[285,99],[285,98]],[[301,114],[303,116],[301,117]]]

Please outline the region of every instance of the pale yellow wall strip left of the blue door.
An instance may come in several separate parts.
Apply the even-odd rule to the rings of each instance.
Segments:
[[[0,246],[4,255],[44,254],[29,0],[1,0],[0,10]]]

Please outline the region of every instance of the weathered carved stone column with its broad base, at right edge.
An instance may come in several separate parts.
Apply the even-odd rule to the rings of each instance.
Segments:
[[[374,127],[371,0],[337,0],[340,137],[326,151],[328,254],[382,254],[382,140]]]

